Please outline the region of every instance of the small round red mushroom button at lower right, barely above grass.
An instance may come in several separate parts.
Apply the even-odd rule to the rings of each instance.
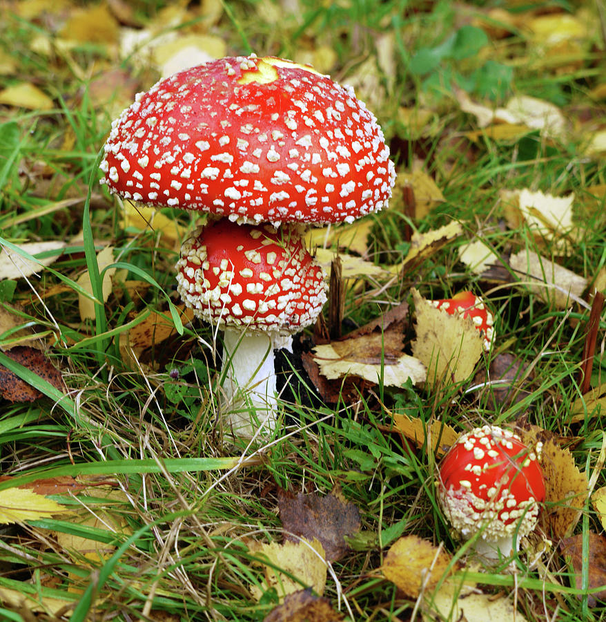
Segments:
[[[439,469],[438,501],[457,536],[479,534],[476,552],[486,560],[509,557],[516,536],[527,536],[545,500],[538,459],[541,444],[529,449],[516,434],[498,426],[462,435]]]

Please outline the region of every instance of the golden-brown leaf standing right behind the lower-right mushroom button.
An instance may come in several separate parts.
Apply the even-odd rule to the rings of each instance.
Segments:
[[[541,468],[545,478],[545,507],[540,522],[549,538],[571,534],[587,497],[587,478],[580,473],[568,449],[555,440],[543,444]]]

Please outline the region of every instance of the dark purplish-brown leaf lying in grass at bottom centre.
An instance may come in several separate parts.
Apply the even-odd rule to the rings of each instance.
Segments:
[[[285,531],[308,540],[317,538],[326,552],[326,560],[336,561],[349,546],[344,536],[360,530],[360,512],[353,503],[342,501],[333,494],[320,497],[316,493],[278,491],[280,520]],[[286,534],[286,538],[293,538]]]

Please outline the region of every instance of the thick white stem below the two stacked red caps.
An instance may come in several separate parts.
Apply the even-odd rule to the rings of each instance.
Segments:
[[[277,406],[273,334],[227,327],[223,348],[222,377],[228,424],[238,436],[244,437],[252,437],[259,428],[273,430]]]

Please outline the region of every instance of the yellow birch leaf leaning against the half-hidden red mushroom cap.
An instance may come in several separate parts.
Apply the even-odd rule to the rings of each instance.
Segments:
[[[436,309],[417,290],[411,291],[416,311],[412,351],[427,367],[427,381],[435,384],[444,377],[454,382],[469,378],[484,352],[482,336],[473,321]]]

